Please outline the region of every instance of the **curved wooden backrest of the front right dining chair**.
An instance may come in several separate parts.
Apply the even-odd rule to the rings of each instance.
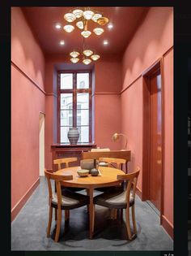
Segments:
[[[134,172],[131,172],[128,174],[117,175],[117,180],[128,180],[127,188],[126,188],[126,202],[127,203],[129,203],[131,191],[132,191],[131,197],[133,197],[133,198],[135,197],[139,172],[140,172],[140,168],[137,167],[136,171],[134,171]]]

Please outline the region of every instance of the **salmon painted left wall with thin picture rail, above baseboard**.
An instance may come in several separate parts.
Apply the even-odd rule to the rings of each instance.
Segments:
[[[44,80],[44,55],[23,12],[12,7],[11,210],[39,178],[39,113],[45,113]]]

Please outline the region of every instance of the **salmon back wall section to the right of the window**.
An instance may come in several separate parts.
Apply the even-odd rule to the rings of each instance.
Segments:
[[[116,60],[113,60],[116,59]],[[100,148],[121,150],[112,134],[121,132],[121,62],[105,58],[95,65],[95,143]]]

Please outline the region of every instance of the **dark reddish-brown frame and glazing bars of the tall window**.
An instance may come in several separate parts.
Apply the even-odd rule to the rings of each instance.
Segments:
[[[61,89],[61,74],[63,73],[72,73],[73,74],[73,89]],[[89,74],[89,88],[88,89],[77,89],[77,73],[88,73]],[[81,144],[92,143],[92,72],[90,70],[66,70],[57,72],[57,142],[62,144],[67,144],[66,142],[61,142],[61,102],[60,95],[61,93],[73,93],[73,127],[77,127],[77,93],[89,93],[89,142],[81,142]],[[83,109],[82,109],[83,110]]]

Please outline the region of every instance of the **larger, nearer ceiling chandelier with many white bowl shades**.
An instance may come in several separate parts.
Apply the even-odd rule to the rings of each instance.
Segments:
[[[64,30],[67,33],[71,33],[74,30],[74,26],[71,23],[75,22],[76,27],[82,30],[81,35],[85,38],[91,35],[91,31],[88,29],[89,22],[100,26],[104,26],[108,23],[108,18],[104,17],[99,11],[94,11],[89,7],[86,7],[84,11],[79,7],[75,8],[69,13],[66,13],[64,19],[68,22],[68,24],[64,26]],[[93,33],[100,36],[104,33],[104,28],[96,26],[96,28],[93,29]]]

